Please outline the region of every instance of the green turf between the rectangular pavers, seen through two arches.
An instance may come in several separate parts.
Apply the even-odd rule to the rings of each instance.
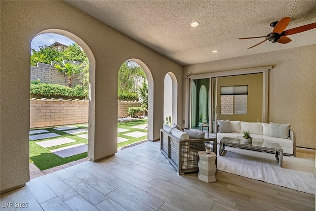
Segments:
[[[122,146],[131,144],[131,143],[135,143],[138,141],[146,140],[147,135],[140,137],[140,138],[133,138],[133,137],[124,135],[125,133],[134,132],[134,131],[142,131],[142,132],[147,133],[147,130],[145,130],[145,129],[132,128],[133,126],[144,125],[144,124],[147,124],[147,119],[133,120],[133,121],[129,121],[129,122],[118,123],[118,128],[129,129],[126,132],[118,133],[119,137],[129,139],[128,141],[118,143],[118,147],[122,147]],[[72,125],[72,126],[87,129],[87,127],[82,127],[81,125]],[[36,129],[40,129],[40,128],[36,128]],[[79,155],[74,155],[74,156],[70,156],[67,158],[61,158],[61,157],[59,157],[59,156],[57,156],[54,153],[51,153],[49,151],[49,150],[58,149],[58,148],[66,147],[66,146],[71,146],[71,145],[75,145],[75,144],[79,144],[79,143],[87,144],[88,143],[87,139],[80,138],[77,136],[79,134],[84,134],[86,132],[77,133],[77,134],[72,135],[72,134],[68,134],[64,131],[55,130],[55,129],[53,129],[53,127],[45,127],[44,129],[48,130],[49,132],[54,132],[54,133],[60,134],[61,136],[54,137],[54,138],[40,139],[40,140],[36,140],[36,141],[30,141],[30,163],[34,163],[40,170],[50,169],[50,168],[53,168],[56,166],[67,164],[69,162],[77,161],[79,159],[87,157],[87,153],[85,152],[85,153],[81,153]],[[39,142],[39,141],[46,141],[46,140],[52,140],[52,139],[64,138],[64,137],[74,139],[74,140],[76,140],[76,142],[62,144],[62,145],[48,147],[48,148],[43,148],[40,145],[36,144],[36,142]]]

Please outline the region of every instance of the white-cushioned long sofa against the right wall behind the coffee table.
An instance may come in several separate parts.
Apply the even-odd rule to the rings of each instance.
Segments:
[[[275,123],[249,123],[242,121],[218,121],[216,137],[218,140],[225,137],[242,139],[243,132],[249,131],[254,139],[263,142],[277,143],[283,149],[283,155],[296,156],[295,132],[291,125]]]

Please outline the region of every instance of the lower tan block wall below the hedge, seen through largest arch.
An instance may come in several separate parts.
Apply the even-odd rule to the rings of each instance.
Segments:
[[[30,128],[88,122],[88,101],[31,100]]]

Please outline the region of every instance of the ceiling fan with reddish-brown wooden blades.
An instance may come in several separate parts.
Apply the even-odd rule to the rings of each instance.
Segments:
[[[315,23],[295,27],[293,29],[288,29],[288,30],[284,31],[284,29],[287,27],[287,25],[290,23],[290,21],[291,21],[290,17],[284,17],[279,21],[275,21],[275,22],[271,23],[270,26],[274,27],[274,29],[271,33],[269,33],[266,36],[251,37],[251,38],[238,38],[238,39],[243,40],[243,39],[253,39],[253,38],[266,38],[266,40],[264,40],[262,42],[270,41],[273,43],[279,42],[282,44],[286,44],[288,42],[291,42],[292,40],[289,39],[288,37],[285,37],[285,36],[297,34],[300,32],[305,32],[305,31],[316,28],[316,22],[315,22]],[[258,44],[261,44],[262,42],[259,42]],[[254,46],[257,46],[258,44],[255,44],[251,47],[248,47],[247,49],[252,48]]]

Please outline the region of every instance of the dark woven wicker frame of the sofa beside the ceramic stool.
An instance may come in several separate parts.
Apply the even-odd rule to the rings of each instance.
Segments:
[[[198,151],[209,147],[217,154],[216,138],[179,140],[160,129],[160,151],[179,174],[198,171]],[[217,159],[215,160],[217,167]]]

